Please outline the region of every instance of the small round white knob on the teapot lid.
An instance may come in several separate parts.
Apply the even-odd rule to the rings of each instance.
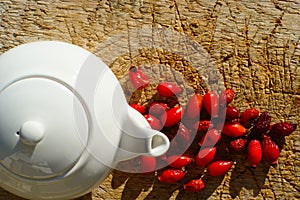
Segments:
[[[44,126],[37,121],[27,121],[20,128],[21,141],[28,145],[35,145],[44,137]]]

